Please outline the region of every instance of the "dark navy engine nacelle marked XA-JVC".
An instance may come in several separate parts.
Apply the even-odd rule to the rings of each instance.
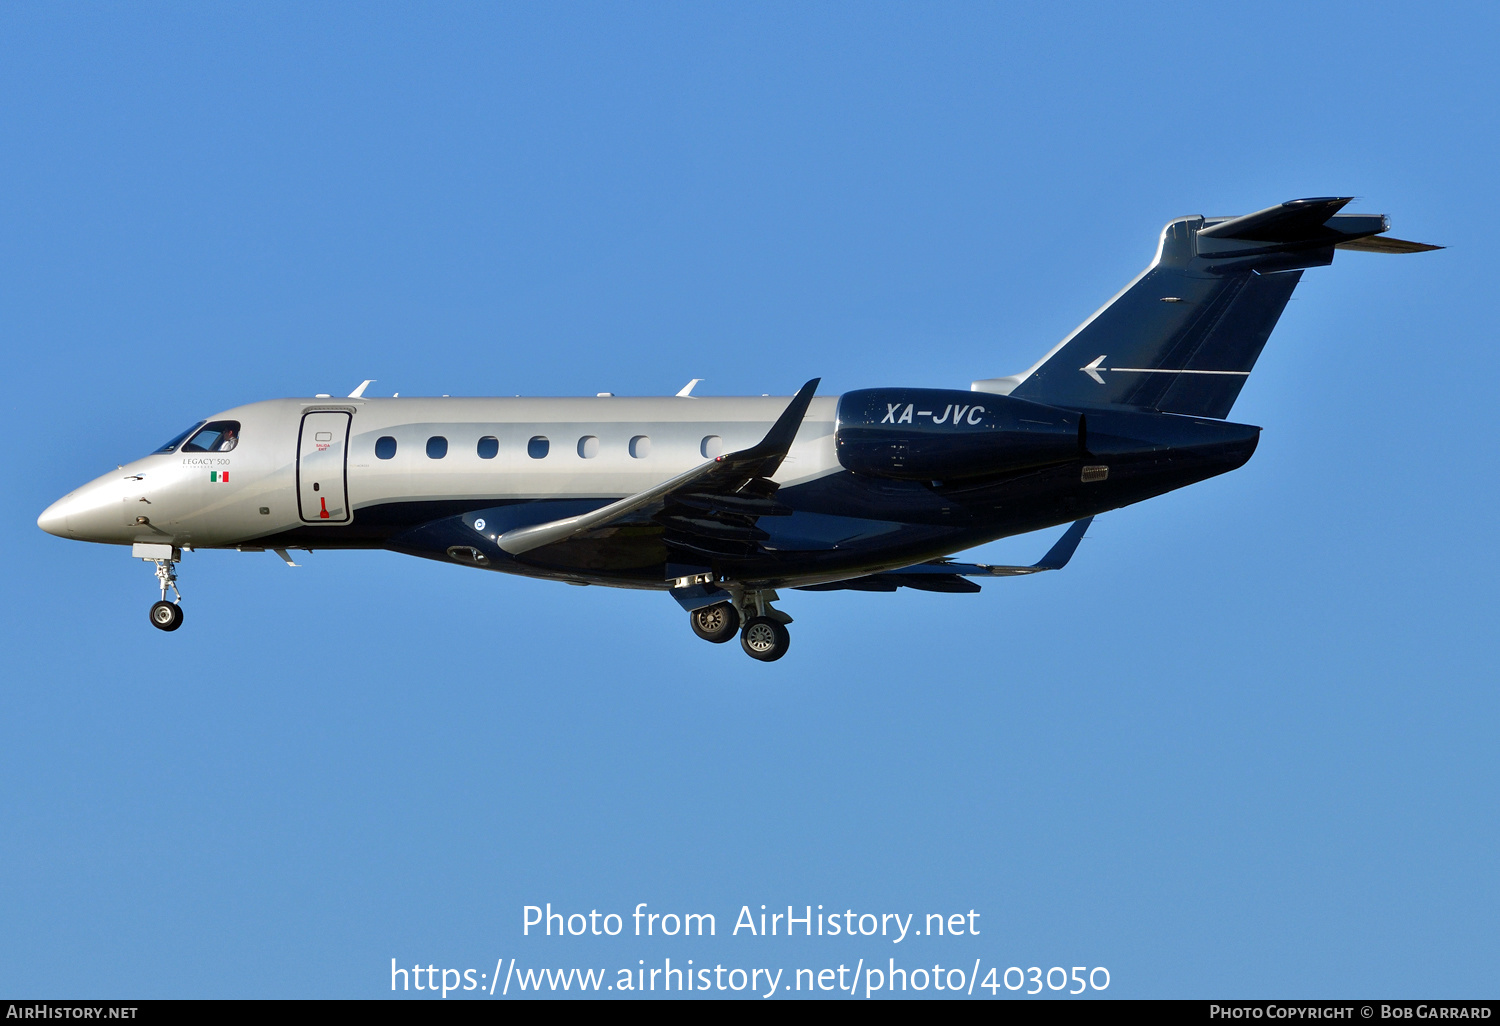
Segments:
[[[834,444],[855,474],[987,477],[1078,459],[1083,417],[987,392],[860,388],[838,398]]]

